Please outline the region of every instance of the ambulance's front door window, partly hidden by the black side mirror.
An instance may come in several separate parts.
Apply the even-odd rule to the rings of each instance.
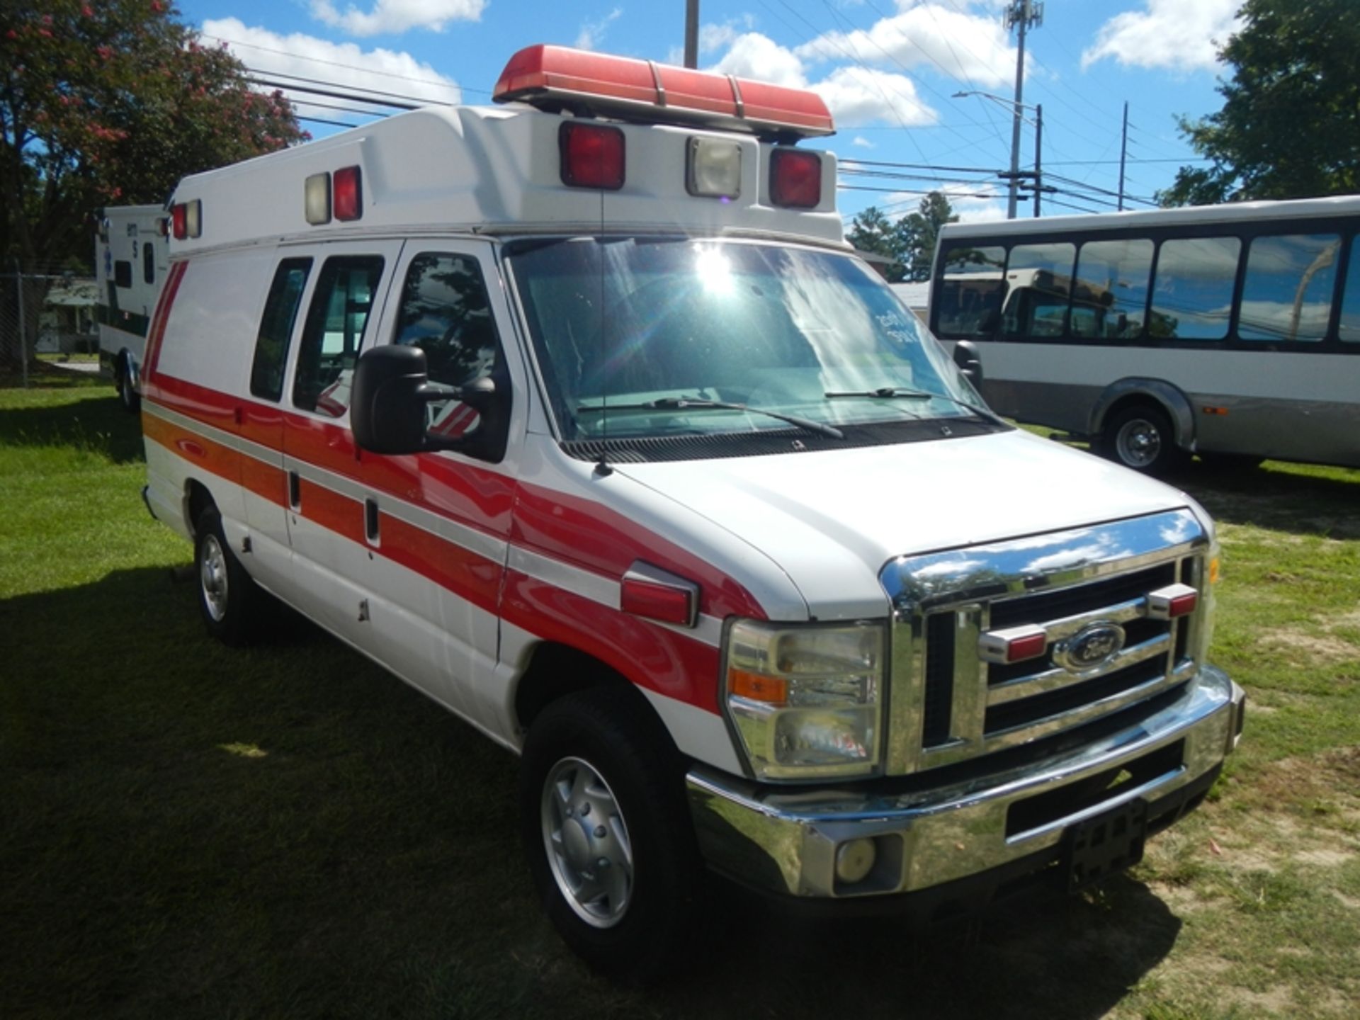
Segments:
[[[466,386],[500,364],[500,341],[481,267],[471,256],[424,252],[411,260],[401,287],[396,343],[426,352],[430,381]],[[458,401],[430,405],[428,428],[450,437],[477,424]]]

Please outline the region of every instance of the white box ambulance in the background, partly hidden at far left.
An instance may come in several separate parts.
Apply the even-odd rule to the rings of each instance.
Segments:
[[[160,205],[101,209],[94,267],[99,369],[113,379],[122,405],[136,411],[147,329],[170,271],[166,211]]]

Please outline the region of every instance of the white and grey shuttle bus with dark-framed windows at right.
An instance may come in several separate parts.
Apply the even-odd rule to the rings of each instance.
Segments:
[[[1360,466],[1360,196],[951,223],[930,328],[996,411],[1136,471]]]

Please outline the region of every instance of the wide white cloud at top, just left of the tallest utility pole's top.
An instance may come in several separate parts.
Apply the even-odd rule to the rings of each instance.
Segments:
[[[994,12],[970,14],[914,0],[898,0],[898,7],[896,15],[874,22],[868,30],[828,31],[794,53],[809,61],[853,60],[903,69],[930,67],[981,87],[1005,84],[1015,78],[1016,50]]]

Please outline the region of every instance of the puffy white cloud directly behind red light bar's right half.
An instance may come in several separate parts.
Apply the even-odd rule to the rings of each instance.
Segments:
[[[802,60],[793,50],[755,31],[737,35],[730,49],[709,69],[790,88],[811,88],[826,99],[840,126],[874,121],[919,125],[937,120],[936,112],[921,101],[915,83],[906,75],[839,67],[820,82],[811,82]]]

